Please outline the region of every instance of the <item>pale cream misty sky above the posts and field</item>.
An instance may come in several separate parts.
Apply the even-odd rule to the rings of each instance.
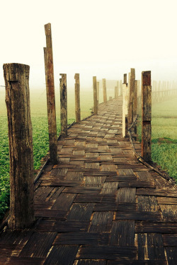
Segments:
[[[30,88],[45,88],[46,23],[52,24],[55,86],[67,73],[74,86],[122,79],[135,68],[159,81],[177,81],[176,0],[4,0],[1,1],[0,85],[3,64],[30,65]],[[0,87],[0,89],[2,89]]]

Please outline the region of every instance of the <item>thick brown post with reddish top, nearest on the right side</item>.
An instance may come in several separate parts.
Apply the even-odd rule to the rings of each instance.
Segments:
[[[142,72],[142,158],[152,161],[152,86],[151,71]]]

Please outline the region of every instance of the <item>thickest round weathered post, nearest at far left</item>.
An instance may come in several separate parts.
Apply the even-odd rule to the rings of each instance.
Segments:
[[[28,228],[34,220],[29,71],[30,66],[25,64],[4,64],[10,158],[10,229]]]

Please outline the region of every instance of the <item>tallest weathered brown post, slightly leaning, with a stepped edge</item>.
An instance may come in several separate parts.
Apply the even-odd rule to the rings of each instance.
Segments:
[[[52,33],[51,24],[45,25],[46,46],[44,48],[45,57],[45,82],[47,95],[47,117],[49,131],[49,148],[50,162],[57,164],[57,122],[55,110],[55,86],[54,86],[54,71],[53,71],[53,55],[52,55]]]

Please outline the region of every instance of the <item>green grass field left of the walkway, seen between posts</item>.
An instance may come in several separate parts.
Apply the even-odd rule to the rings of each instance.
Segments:
[[[55,96],[57,113],[57,135],[60,131],[59,120],[59,91]],[[74,122],[74,90],[68,91],[68,124]],[[81,119],[91,114],[93,106],[92,90],[81,93]],[[38,170],[40,160],[49,150],[47,104],[45,90],[30,91],[30,108],[33,125],[33,154],[34,168]],[[8,156],[8,124],[6,117],[5,90],[0,90],[0,220],[9,207],[9,156]]]

